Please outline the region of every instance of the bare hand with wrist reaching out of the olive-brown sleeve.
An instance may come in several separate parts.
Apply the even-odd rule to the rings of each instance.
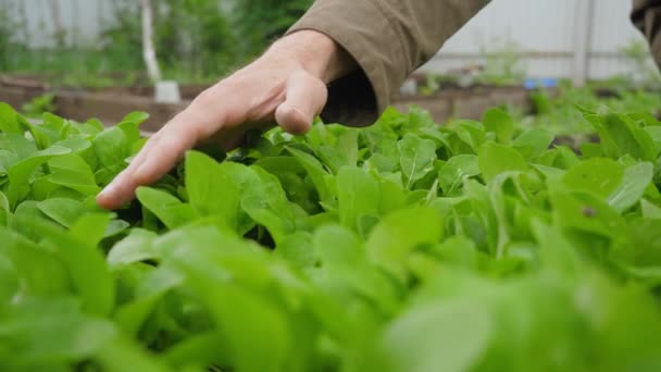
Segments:
[[[351,58],[324,34],[300,30],[275,42],[261,58],[198,96],[154,134],[97,197],[116,209],[138,186],[157,182],[200,144],[228,150],[247,131],[274,121],[286,132],[304,134],[324,108],[326,84],[349,73]]]

